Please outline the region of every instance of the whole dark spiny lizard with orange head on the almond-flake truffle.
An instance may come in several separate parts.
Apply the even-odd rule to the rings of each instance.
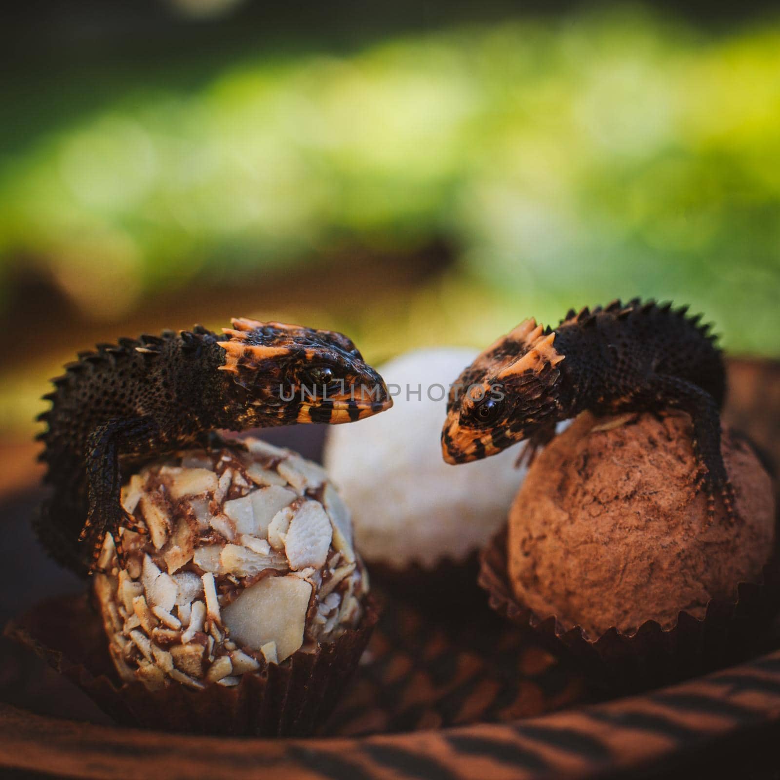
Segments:
[[[41,460],[54,491],[35,519],[49,553],[92,572],[106,533],[121,555],[122,470],[214,431],[345,423],[392,406],[353,342],[300,325],[234,319],[224,336],[192,331],[119,339],[79,353],[54,380]]]

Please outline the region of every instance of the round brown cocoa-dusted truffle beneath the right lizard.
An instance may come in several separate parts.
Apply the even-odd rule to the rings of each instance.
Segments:
[[[724,431],[736,494],[733,525],[721,505],[693,496],[690,420],[579,417],[531,467],[509,516],[509,577],[540,619],[556,615],[595,640],[612,626],[704,618],[711,598],[736,601],[771,557],[771,481],[745,441]]]

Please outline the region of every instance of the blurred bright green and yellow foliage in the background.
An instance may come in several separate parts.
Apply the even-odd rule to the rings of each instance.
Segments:
[[[780,19],[704,34],[633,7],[237,55],[29,136],[0,158],[2,271],[39,264],[97,317],[438,237],[502,323],[642,293],[780,354]]]

